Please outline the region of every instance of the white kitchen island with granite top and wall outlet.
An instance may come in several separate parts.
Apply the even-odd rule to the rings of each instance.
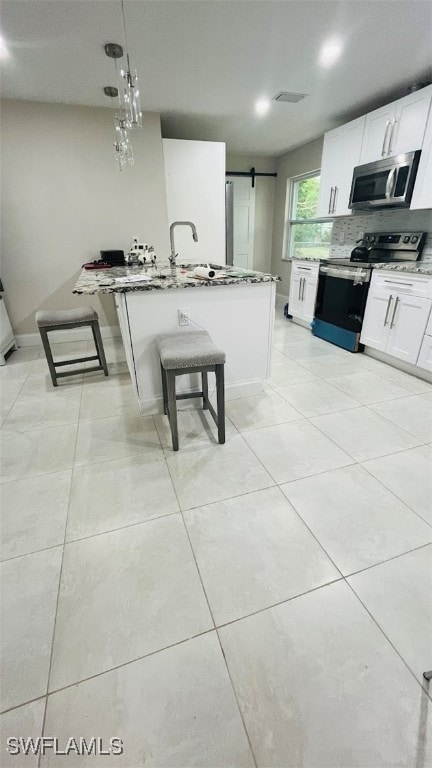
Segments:
[[[193,276],[196,266],[83,269],[74,287],[76,294],[113,294],[129,372],[144,415],[163,412],[156,339],[164,333],[208,331],[226,353],[227,399],[259,394],[269,375],[280,278],[210,265],[216,277],[202,280]],[[181,325],[185,314],[189,322]],[[199,391],[198,375],[179,378],[177,388]]]

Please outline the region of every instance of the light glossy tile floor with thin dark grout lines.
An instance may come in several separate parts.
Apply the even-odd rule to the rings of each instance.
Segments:
[[[0,368],[2,766],[432,764],[432,386],[274,345],[225,446],[188,405],[176,454],[118,341],[108,379]],[[124,753],[5,751],[42,733]]]

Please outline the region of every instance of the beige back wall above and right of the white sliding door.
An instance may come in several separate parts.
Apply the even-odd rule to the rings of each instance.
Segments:
[[[275,173],[276,158],[258,155],[227,154],[227,171],[250,171]],[[255,226],[253,268],[259,272],[271,272],[273,208],[276,179],[259,176],[255,179]]]

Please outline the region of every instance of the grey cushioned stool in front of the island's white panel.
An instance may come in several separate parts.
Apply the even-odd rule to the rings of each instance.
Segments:
[[[207,331],[172,333],[157,339],[164,413],[168,416],[173,450],[178,451],[177,400],[202,397],[203,410],[209,410],[218,428],[219,443],[225,442],[225,352],[215,347]],[[217,412],[208,399],[208,373],[216,375]],[[176,394],[176,376],[201,373],[202,392]]]

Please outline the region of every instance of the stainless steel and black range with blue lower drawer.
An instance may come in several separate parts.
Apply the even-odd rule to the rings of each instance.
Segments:
[[[425,232],[366,232],[350,259],[320,264],[312,333],[350,352],[363,352],[360,333],[374,264],[416,261]]]

